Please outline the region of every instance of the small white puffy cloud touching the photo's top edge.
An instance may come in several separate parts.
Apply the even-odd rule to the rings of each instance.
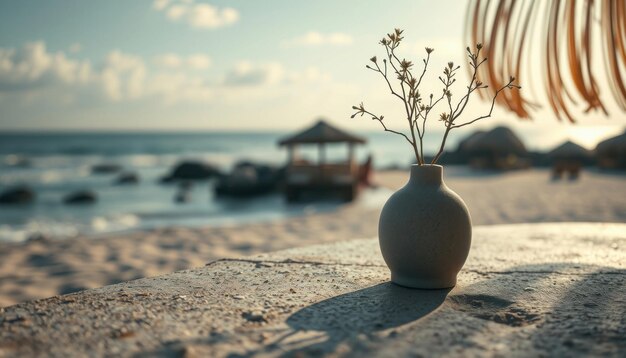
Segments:
[[[173,22],[186,22],[200,29],[216,29],[234,24],[239,20],[239,12],[230,7],[218,8],[206,3],[193,1],[155,0],[152,7]]]

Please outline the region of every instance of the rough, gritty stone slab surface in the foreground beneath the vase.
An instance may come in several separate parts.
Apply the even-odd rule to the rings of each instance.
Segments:
[[[0,356],[623,356],[626,224],[476,227],[452,290],[390,284],[375,239],[0,309]]]

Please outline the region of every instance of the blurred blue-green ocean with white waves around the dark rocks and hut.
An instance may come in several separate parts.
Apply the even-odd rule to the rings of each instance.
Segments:
[[[214,182],[197,183],[188,203],[176,203],[175,185],[159,179],[182,160],[202,160],[228,171],[239,160],[282,165],[286,150],[277,145],[287,132],[273,133],[4,133],[0,134],[0,191],[27,185],[34,203],[0,205],[0,241],[23,241],[36,234],[53,238],[98,236],[168,226],[237,225],[302,213],[334,210],[339,203],[288,205],[279,194],[249,200],[213,195]],[[407,165],[411,150],[389,133],[361,133],[368,144],[357,149],[360,161],[372,154],[378,168]],[[434,150],[436,142],[427,147]],[[346,155],[343,145],[327,156]],[[317,148],[302,148],[315,159]],[[139,175],[137,185],[115,185],[119,173],[94,174],[97,164],[116,164]],[[63,197],[90,190],[97,201],[65,205]],[[380,206],[389,193],[368,190],[359,200]]]

